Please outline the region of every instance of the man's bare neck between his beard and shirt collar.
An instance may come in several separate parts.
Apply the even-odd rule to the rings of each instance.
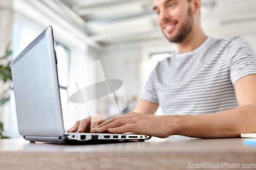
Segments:
[[[195,31],[197,30],[197,31]],[[193,29],[188,34],[186,39],[181,43],[178,43],[179,54],[186,53],[195,50],[207,39],[207,36],[203,33],[201,28]]]

